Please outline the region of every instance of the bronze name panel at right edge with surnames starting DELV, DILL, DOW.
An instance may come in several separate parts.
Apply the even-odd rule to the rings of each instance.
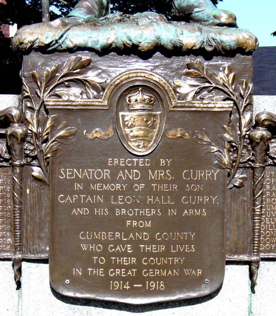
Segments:
[[[261,257],[276,256],[276,168],[266,167],[261,220]]]

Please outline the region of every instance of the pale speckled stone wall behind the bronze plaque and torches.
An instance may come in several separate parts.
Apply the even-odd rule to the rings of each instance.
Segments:
[[[0,96],[0,110],[16,105],[18,96]],[[276,96],[254,96],[254,115],[276,112]],[[226,264],[220,289],[198,299],[132,306],[95,300],[75,300],[55,292],[49,282],[48,261],[22,264],[21,289],[15,289],[12,264],[0,260],[0,316],[272,316],[275,315],[276,261],[265,260],[259,269],[258,285],[251,288],[245,263]]]

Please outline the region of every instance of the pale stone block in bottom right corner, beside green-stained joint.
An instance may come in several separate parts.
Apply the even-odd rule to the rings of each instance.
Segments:
[[[258,285],[251,295],[251,315],[275,315],[276,261],[262,261],[259,268]]]

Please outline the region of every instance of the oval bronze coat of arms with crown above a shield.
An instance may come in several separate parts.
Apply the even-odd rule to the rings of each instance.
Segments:
[[[118,98],[116,128],[121,142],[135,155],[147,155],[158,145],[165,125],[161,96],[150,87],[135,87]]]

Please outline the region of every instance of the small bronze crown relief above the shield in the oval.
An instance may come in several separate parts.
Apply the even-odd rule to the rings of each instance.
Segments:
[[[143,88],[139,88],[137,92],[127,94],[125,97],[129,110],[152,110],[156,98],[153,94],[146,93]]]

